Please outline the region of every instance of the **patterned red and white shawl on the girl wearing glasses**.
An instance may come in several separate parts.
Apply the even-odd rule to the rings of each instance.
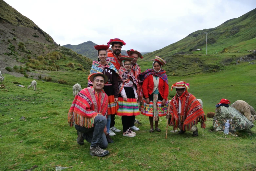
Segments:
[[[138,87],[138,80],[134,77],[133,72],[131,70],[127,71],[124,67],[121,66],[118,73],[122,77],[122,83],[119,82],[118,93],[121,93],[125,83],[128,83],[130,80],[133,82],[133,84],[136,85],[136,88]]]

